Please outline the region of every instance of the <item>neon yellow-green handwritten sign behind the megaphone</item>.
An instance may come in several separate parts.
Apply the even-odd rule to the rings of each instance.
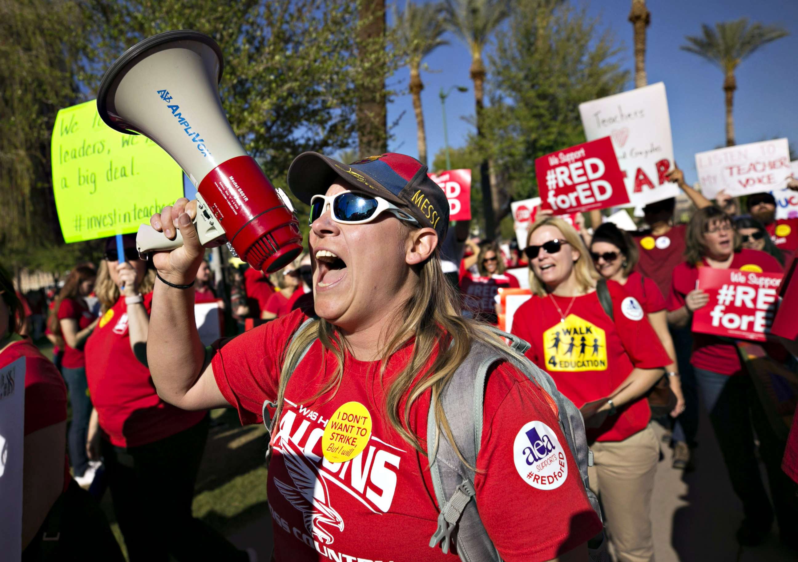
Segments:
[[[183,196],[183,172],[172,156],[146,137],[105,125],[96,101],[58,112],[50,151],[66,242],[136,232]]]

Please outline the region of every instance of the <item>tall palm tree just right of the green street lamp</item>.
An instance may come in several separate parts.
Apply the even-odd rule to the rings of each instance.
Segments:
[[[488,43],[493,31],[504,22],[509,15],[507,0],[445,0],[444,13],[450,30],[467,46],[471,53],[469,72],[474,81],[474,97],[476,100],[476,136],[484,139],[483,109],[485,65],[482,61],[482,50]],[[496,235],[496,220],[493,212],[493,200],[488,159],[480,164],[480,184],[482,185],[482,201],[485,216],[485,235],[493,239]]]

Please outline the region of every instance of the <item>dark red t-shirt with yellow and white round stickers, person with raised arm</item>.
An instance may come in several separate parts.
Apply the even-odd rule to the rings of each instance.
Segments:
[[[635,270],[643,277],[654,279],[662,295],[670,293],[670,277],[674,268],[685,260],[686,231],[686,224],[676,224],[670,231],[659,236],[630,232],[640,253]]]

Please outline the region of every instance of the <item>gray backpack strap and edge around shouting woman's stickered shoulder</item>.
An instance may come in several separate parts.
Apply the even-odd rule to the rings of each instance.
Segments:
[[[496,328],[492,330],[510,341],[512,350],[523,354],[529,343],[507,334]],[[460,560],[472,562],[476,560],[500,560],[499,552],[488,536],[480,514],[476,509],[474,491],[476,457],[480,450],[483,425],[483,400],[485,382],[490,367],[499,361],[512,362],[531,381],[537,383],[551,398],[559,410],[559,425],[566,438],[568,447],[579,467],[587,498],[595,512],[601,517],[599,500],[588,485],[587,465],[590,451],[587,449],[584,421],[573,402],[565,398],[557,390],[554,380],[545,371],[539,369],[527,358],[519,361],[510,354],[501,354],[499,350],[482,342],[474,342],[465,361],[452,375],[443,392],[440,394],[440,405],[452,431],[452,437],[460,453],[468,465],[460,460],[451,443],[444,437],[435,420],[435,410],[430,408],[427,418],[427,453],[429,469],[433,479],[433,488],[440,506],[438,527],[429,541],[435,548],[440,543],[444,553],[448,552],[451,540],[456,541],[457,554]],[[464,408],[471,404],[472,409]],[[591,540],[589,553],[591,560],[608,560],[606,541],[602,533]],[[596,544],[598,543],[598,544]],[[594,546],[595,545],[595,546]]]

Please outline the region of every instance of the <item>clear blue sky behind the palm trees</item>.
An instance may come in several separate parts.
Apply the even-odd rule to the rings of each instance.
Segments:
[[[620,42],[622,64],[634,70],[632,25],[628,22],[629,0],[578,0],[588,13],[600,18]],[[684,169],[686,180],[696,180],[696,152],[725,144],[725,108],[723,73],[708,61],[679,49],[685,35],[701,32],[701,23],[747,17],[764,24],[777,24],[790,35],[762,47],[737,69],[737,92],[734,97],[734,125],[737,144],[772,137],[787,137],[798,148],[798,2],[796,0],[648,0],[651,25],[648,28],[646,72],[650,84],[665,82],[674,137],[676,161]],[[404,5],[404,2],[401,2]],[[433,72],[422,72],[425,89],[421,103],[427,132],[430,164],[444,146],[441,123],[441,86],[468,86],[467,93],[456,90],[446,101],[449,145],[461,146],[472,130],[468,124],[474,114],[472,82],[468,78],[468,50],[451,34],[450,45],[434,51],[425,62]],[[401,81],[407,87],[409,72],[401,69],[389,83]],[[630,81],[627,89],[633,86]],[[389,150],[417,154],[416,119],[409,94],[397,97],[388,108],[392,123],[405,112],[393,130],[396,138]]]

